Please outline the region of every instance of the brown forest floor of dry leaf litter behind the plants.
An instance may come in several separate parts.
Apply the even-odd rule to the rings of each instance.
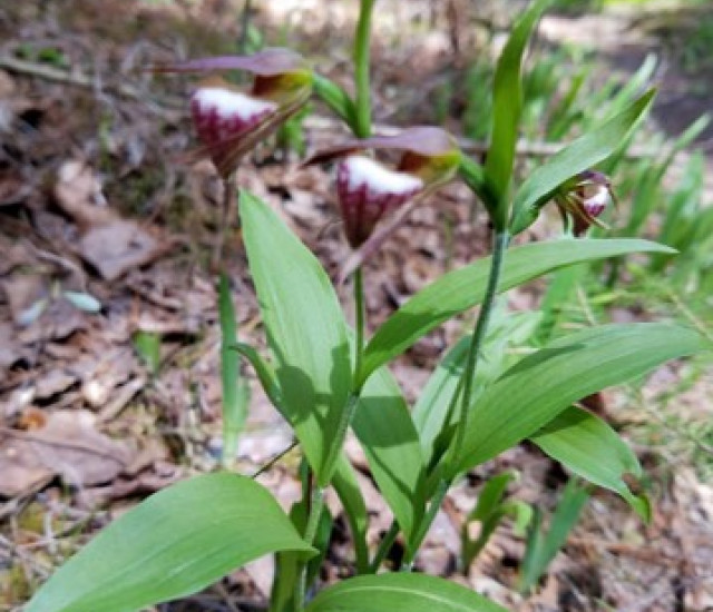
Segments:
[[[219,464],[219,328],[209,259],[221,185],[211,162],[186,160],[195,147],[188,80],[147,69],[234,52],[242,30],[240,7],[229,0],[6,4],[0,8],[0,610],[17,610],[113,517]],[[355,18],[344,8],[350,3],[264,4],[253,23],[270,43],[297,45],[320,70],[349,85]],[[488,16],[496,30],[510,18],[497,11],[499,4]],[[471,9],[458,1],[382,0],[379,10],[375,121],[433,121],[432,95],[445,81],[456,82],[482,45]],[[681,69],[685,58],[675,28],[661,17],[637,19],[626,11],[550,16],[540,36],[551,45],[595,45],[603,70],[624,75],[648,51],[661,53],[654,119],[675,136],[711,109],[713,65],[700,60],[692,71]],[[316,110],[305,120],[307,151],[344,134],[325,109]],[[447,124],[460,132],[457,100]],[[697,147],[711,168],[712,128]],[[709,203],[711,177],[707,172]],[[326,171],[302,168],[294,151],[266,144],[241,167],[238,182],[280,211],[336,276],[349,247]],[[487,250],[485,215],[463,186],[450,185],[432,200],[367,266],[372,329],[408,296]],[[530,238],[547,231],[538,226],[540,235]],[[236,228],[228,231],[227,248],[241,339],[264,347]],[[348,289],[339,288],[345,304]],[[98,313],[77,307],[77,300],[87,306],[85,294],[100,303]],[[535,284],[510,293],[508,305],[537,307],[540,296],[541,285]],[[613,316],[649,314],[621,307]],[[472,315],[443,325],[394,365],[409,398],[468,320]],[[136,349],[139,332],[160,338],[155,368]],[[646,470],[651,524],[600,491],[533,596],[515,590],[525,543],[508,525],[498,529],[467,575],[458,573],[462,517],[489,475],[517,470],[512,496],[554,507],[565,475],[524,445],[453,490],[417,567],[469,584],[512,610],[713,610],[713,486],[705,482],[713,473],[713,433],[705,430],[702,440],[688,426],[712,421],[713,376],[711,367],[692,372],[686,362],[673,363],[642,389],[609,391],[600,398]],[[290,428],[251,383],[237,466],[245,474],[292,442]],[[682,393],[671,398],[672,388]],[[350,441],[348,451],[375,544],[391,516],[358,444]],[[297,461],[293,452],[260,476],[284,507],[300,495]],[[336,524],[345,531],[343,519]],[[336,540],[322,576],[326,582],[349,572],[351,563],[343,539]],[[157,610],[260,609],[271,571],[267,561],[253,563],[205,593]]]

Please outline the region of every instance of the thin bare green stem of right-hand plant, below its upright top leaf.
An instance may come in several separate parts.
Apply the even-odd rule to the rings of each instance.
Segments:
[[[468,408],[470,406],[470,398],[472,396],[472,385],[476,378],[476,369],[478,367],[478,357],[480,356],[480,348],[488,332],[488,324],[490,323],[490,314],[492,312],[492,305],[495,304],[495,297],[498,293],[498,283],[500,282],[500,273],[502,272],[502,261],[505,259],[505,251],[508,248],[510,241],[510,235],[507,231],[501,231],[495,236],[495,245],[492,248],[492,259],[490,261],[490,276],[488,278],[488,286],[486,288],[486,295],[480,306],[480,314],[476,322],[476,328],[470,338],[470,345],[468,347],[468,357],[466,359],[466,369],[463,371],[463,391],[460,396],[460,411],[458,415],[458,422],[456,425],[456,440],[452,446],[452,453],[450,455],[450,468],[448,470],[448,477],[452,481],[458,472],[457,462],[460,457],[460,452],[463,446],[466,437],[466,421],[468,416]]]

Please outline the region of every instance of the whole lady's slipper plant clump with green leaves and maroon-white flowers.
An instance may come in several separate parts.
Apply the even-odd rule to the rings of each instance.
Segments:
[[[501,610],[463,586],[410,570],[453,483],[522,440],[539,445],[576,476],[615,491],[644,520],[648,517],[647,501],[633,493],[623,477],[641,476],[636,456],[603,419],[577,403],[667,359],[710,349],[710,343],[697,332],[674,325],[606,325],[558,337],[511,363],[504,357],[495,329],[515,330],[507,322],[491,325],[491,319],[497,294],[551,270],[631,253],[671,253],[663,245],[625,238],[565,237],[510,246],[512,236],[527,229],[549,201],[567,214],[579,214],[589,200],[587,188],[609,191],[608,182],[592,179],[582,185],[583,177],[592,176],[586,172],[617,151],[646,112],[653,92],[580,136],[515,186],[522,58],[547,0],[536,0],[521,14],[498,61],[490,147],[482,166],[439,128],[372,137],[373,3],[361,1],[354,98],[287,51],[270,52],[273,59],[293,58],[287,70],[281,65],[270,73],[264,55],[173,67],[243,68],[256,75],[252,91],[256,99],[250,103],[222,82],[216,93],[211,89],[215,81],[204,83],[193,98],[198,132],[223,176],[234,170],[246,144],[263,138],[310,93],[326,102],[354,136],[315,159],[338,159],[336,190],[346,239],[355,254],[345,273],[353,276],[354,329],[326,273],[279,216],[245,191],[238,205],[270,356],[242,344],[235,349],[250,361],[266,395],[294,430],[303,456],[302,500],[286,514],[254,480],[227,471],[173,485],[127,512],[70,559],[38,591],[28,612],[138,610],[194,593],[267,553],[276,553],[272,612],[431,612],[434,605],[446,612]],[[240,107],[235,117],[234,107]],[[235,148],[228,149],[228,144]],[[374,160],[374,152],[384,147],[401,151],[397,167]],[[436,279],[367,338],[364,257],[383,239],[389,223],[400,221],[414,201],[457,176],[488,213],[491,256]],[[577,195],[579,189],[585,189],[584,196]],[[585,211],[587,220],[597,217],[598,210]],[[443,356],[409,407],[389,371],[390,362],[443,322],[478,305],[472,333]],[[350,428],[393,513],[390,530],[375,546],[367,540],[364,499],[343,453]],[[354,551],[350,571],[355,575],[322,588],[318,575],[330,542],[332,516],[324,504],[330,486],[350,526]],[[490,514],[482,512],[489,520]],[[404,553],[401,567],[392,569],[402,571],[382,571],[397,537]]]

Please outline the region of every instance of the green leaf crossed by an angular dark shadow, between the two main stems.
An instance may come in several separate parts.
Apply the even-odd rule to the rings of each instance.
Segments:
[[[409,407],[387,368],[362,389],[352,428],[371,473],[408,537],[423,514],[423,455]]]

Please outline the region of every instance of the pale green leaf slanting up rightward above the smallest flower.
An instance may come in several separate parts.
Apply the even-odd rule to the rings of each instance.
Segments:
[[[614,154],[636,128],[654,98],[651,90],[604,125],[580,136],[537,168],[520,186],[512,207],[512,235],[526,229],[563,182]]]

